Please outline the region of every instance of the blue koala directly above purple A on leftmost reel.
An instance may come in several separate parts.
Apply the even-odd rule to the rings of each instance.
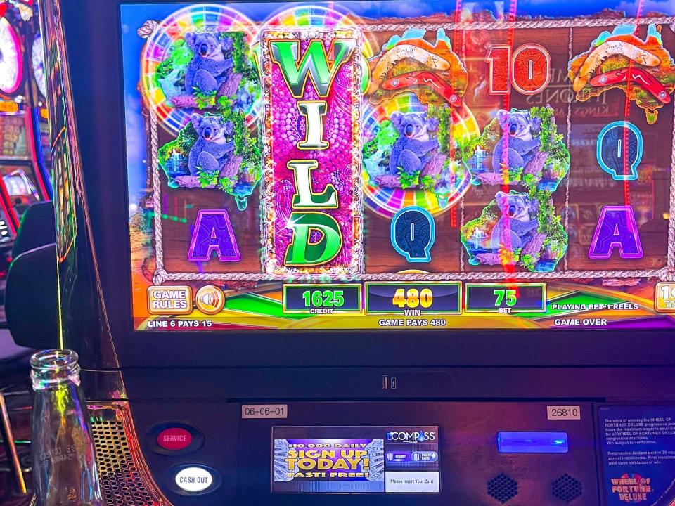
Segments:
[[[198,169],[210,173],[219,172],[234,151],[234,143],[228,141],[234,134],[233,122],[226,122],[215,115],[202,116],[196,113],[190,120],[199,135],[188,157],[190,174],[196,176]]]

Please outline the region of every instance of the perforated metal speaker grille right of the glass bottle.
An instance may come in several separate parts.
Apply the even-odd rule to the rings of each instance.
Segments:
[[[142,454],[131,432],[133,427],[128,425],[131,422],[128,407],[122,403],[110,407],[89,406],[89,414],[104,504],[169,506],[142,462]]]

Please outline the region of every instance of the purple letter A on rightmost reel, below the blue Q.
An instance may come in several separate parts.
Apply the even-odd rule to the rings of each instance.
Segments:
[[[600,212],[598,227],[593,234],[589,258],[609,259],[615,247],[619,257],[642,258],[642,243],[631,206],[605,206]]]

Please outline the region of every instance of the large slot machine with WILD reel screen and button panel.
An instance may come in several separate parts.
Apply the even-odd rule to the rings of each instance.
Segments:
[[[671,2],[53,1],[109,505],[672,505]]]

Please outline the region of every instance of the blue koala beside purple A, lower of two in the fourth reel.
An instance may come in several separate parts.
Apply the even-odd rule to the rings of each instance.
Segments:
[[[501,217],[492,228],[491,249],[494,251],[503,247],[511,251],[522,249],[532,240],[539,228],[539,221],[531,218],[531,214],[536,215],[536,200],[527,197],[527,193],[518,192],[498,192],[495,200],[501,211]]]

